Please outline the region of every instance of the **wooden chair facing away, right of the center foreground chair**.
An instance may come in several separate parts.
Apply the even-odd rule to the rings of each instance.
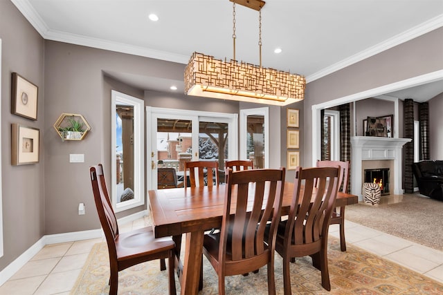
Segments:
[[[284,294],[291,294],[289,262],[296,257],[311,256],[321,271],[321,285],[330,291],[327,266],[327,231],[338,191],[340,168],[296,168],[293,198],[287,220],[278,225],[275,251],[283,258]],[[314,191],[315,190],[315,191]],[[313,194],[314,193],[314,194]],[[271,240],[272,231],[265,238]]]

